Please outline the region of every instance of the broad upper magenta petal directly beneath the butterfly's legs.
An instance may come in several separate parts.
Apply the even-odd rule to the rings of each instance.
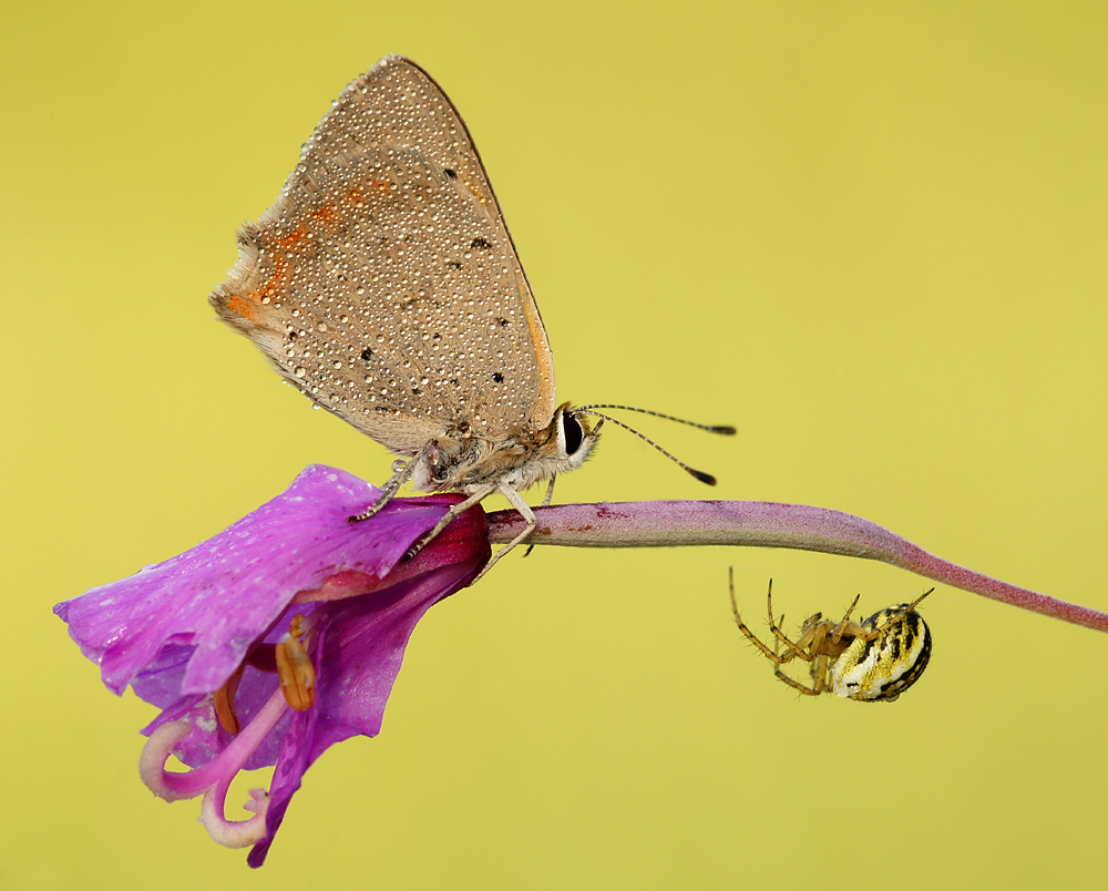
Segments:
[[[448,509],[441,501],[397,500],[372,521],[347,522],[377,495],[345,471],[309,467],[218,535],[54,612],[116,694],[171,645],[193,648],[177,695],[212,692],[297,592],[342,570],[383,576]]]

